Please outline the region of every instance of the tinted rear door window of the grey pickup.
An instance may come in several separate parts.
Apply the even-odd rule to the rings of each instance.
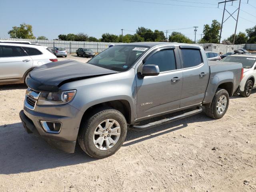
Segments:
[[[194,67],[202,63],[200,50],[197,49],[182,49],[182,59],[184,68]]]

